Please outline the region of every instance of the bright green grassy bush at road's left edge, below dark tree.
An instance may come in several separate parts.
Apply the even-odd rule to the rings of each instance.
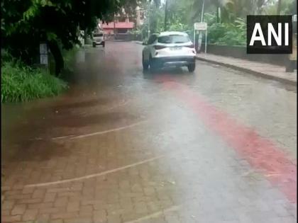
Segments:
[[[28,67],[9,57],[1,64],[1,102],[30,101],[35,98],[56,96],[67,88],[61,79],[45,69]]]

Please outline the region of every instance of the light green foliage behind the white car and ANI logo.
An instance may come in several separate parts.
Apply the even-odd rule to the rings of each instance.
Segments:
[[[169,1],[169,0],[168,0]],[[279,0],[280,1],[280,0]],[[201,21],[203,0],[171,0],[168,4],[167,30],[177,30],[193,36],[193,24]],[[283,0],[281,14],[297,13],[296,0]],[[245,45],[246,16],[254,14],[277,14],[278,1],[274,0],[210,0],[204,4],[204,21],[208,23],[208,42],[216,45]],[[163,31],[164,6],[155,8],[147,16],[143,33]],[[160,16],[162,15],[162,16]],[[143,35],[144,36],[144,35]]]

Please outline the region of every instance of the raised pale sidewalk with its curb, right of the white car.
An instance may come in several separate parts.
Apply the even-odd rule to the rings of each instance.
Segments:
[[[197,59],[231,67],[233,69],[239,69],[241,71],[249,72],[250,74],[262,76],[267,79],[275,79],[288,84],[297,84],[296,72],[285,72],[285,67],[211,54],[198,54]]]

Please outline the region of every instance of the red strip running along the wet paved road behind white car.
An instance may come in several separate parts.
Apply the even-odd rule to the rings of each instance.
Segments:
[[[297,161],[286,154],[269,139],[258,135],[255,130],[242,125],[227,113],[217,109],[206,99],[192,92],[187,86],[160,76],[165,88],[174,91],[199,115],[209,129],[213,130],[249,164],[261,171],[272,184],[278,185],[290,202],[297,202]]]

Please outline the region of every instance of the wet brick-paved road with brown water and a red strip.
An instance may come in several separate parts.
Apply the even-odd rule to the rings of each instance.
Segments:
[[[297,90],[88,48],[57,98],[2,106],[2,222],[297,222]]]

